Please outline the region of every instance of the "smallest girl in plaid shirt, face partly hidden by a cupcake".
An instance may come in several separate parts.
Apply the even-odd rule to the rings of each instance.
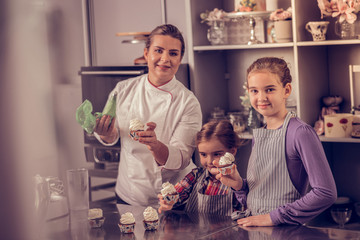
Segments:
[[[211,213],[230,216],[239,205],[230,187],[215,179],[210,170],[226,152],[236,154],[241,140],[227,120],[206,123],[196,135],[196,145],[203,168],[194,168],[175,185],[179,200],[175,205],[166,204],[159,194],[159,212],[184,208],[187,212]],[[236,166],[234,165],[233,168]]]

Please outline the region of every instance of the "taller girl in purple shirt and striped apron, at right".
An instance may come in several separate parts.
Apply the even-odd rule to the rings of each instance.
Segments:
[[[335,202],[337,192],[317,134],[286,110],[292,89],[286,62],[273,57],[256,60],[247,70],[247,88],[251,105],[266,125],[253,132],[247,179],[237,171],[230,176],[217,172],[216,178],[240,190],[240,201],[246,197],[248,217],[239,219],[239,225],[308,222]]]

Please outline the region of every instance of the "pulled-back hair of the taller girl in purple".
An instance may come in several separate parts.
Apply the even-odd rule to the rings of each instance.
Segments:
[[[247,69],[247,79],[249,78],[250,74],[262,71],[268,71],[277,75],[283,87],[292,81],[290,69],[288,68],[287,63],[281,58],[263,57],[257,59]]]

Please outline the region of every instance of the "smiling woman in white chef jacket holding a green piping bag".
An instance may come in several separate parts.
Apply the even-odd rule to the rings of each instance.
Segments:
[[[162,183],[190,163],[202,115],[194,94],[175,78],[184,52],[184,39],[175,26],[156,27],[144,49],[149,73],[119,82],[110,93],[116,94],[115,121],[107,115],[97,119],[100,142],[113,145],[120,137],[118,203],[156,205]],[[132,119],[147,127],[136,141],[129,137]]]

